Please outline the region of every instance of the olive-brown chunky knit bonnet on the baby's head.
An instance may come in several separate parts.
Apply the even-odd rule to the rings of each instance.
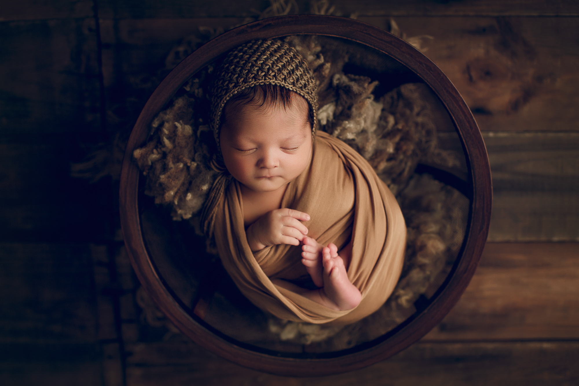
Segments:
[[[234,94],[258,85],[282,86],[303,96],[310,105],[314,122],[312,134],[315,133],[318,96],[314,74],[302,56],[287,43],[278,40],[245,43],[228,54],[216,74],[211,122],[218,145],[223,107]]]

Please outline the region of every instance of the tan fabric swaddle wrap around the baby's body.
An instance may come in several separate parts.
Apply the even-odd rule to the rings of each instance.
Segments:
[[[320,132],[309,166],[288,185],[281,207],[310,214],[308,236],[341,250],[352,243],[348,278],[362,294],[361,303],[335,311],[272,279],[307,275],[301,246],[275,245],[252,253],[244,229],[240,185],[232,181],[214,191],[213,234],[219,256],[237,287],[257,307],[278,318],[309,323],[347,324],[376,311],[400,276],[406,226],[398,203],[372,166],[342,141]],[[210,195],[211,195],[210,194]]]

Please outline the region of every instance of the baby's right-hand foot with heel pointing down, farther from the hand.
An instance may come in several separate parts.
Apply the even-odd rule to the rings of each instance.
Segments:
[[[329,243],[322,250],[324,265],[324,288],[321,289],[339,310],[352,309],[360,304],[362,294],[350,283],[342,257],[338,256],[338,248]],[[312,276],[313,278],[313,276]]]

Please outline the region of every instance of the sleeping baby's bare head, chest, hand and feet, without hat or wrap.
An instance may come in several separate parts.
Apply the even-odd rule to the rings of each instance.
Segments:
[[[360,303],[360,291],[350,283],[351,250],[324,247],[307,236],[310,215],[281,206],[288,183],[306,170],[312,158],[312,126],[307,101],[275,85],[253,86],[226,104],[219,143],[227,170],[239,181],[243,222],[252,252],[278,244],[300,245],[302,263],[318,290],[302,295],[343,310]],[[292,289],[283,279],[279,286]]]

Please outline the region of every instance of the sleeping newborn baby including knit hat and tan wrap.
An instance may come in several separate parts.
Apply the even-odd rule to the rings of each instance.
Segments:
[[[305,60],[281,41],[252,41],[215,77],[213,163],[222,173],[201,221],[223,267],[278,318],[346,324],[376,311],[402,270],[404,219],[360,154],[316,133]]]

